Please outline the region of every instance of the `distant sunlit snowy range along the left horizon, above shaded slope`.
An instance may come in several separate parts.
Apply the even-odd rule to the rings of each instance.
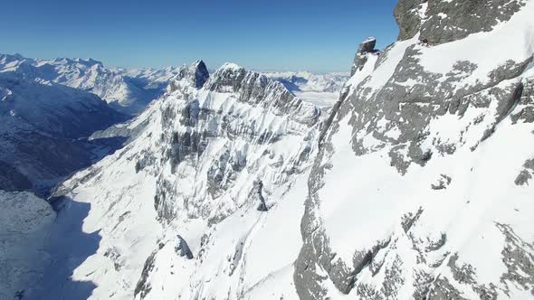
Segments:
[[[89,91],[126,114],[138,113],[161,95],[167,81],[176,75],[174,71],[174,68],[108,69],[100,61],[92,59],[33,60],[20,54],[0,55],[0,72],[12,72],[26,80],[48,80]]]

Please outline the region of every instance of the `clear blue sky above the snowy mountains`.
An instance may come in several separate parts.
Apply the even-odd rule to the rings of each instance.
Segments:
[[[348,71],[359,42],[395,42],[396,0],[12,0],[0,52],[164,67]]]

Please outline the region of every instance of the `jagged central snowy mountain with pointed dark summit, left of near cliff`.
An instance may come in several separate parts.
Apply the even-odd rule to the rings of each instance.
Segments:
[[[91,205],[82,230],[100,242],[26,295],[225,299],[273,274],[291,278],[304,198],[290,190],[306,191],[319,115],[234,64],[209,79],[202,61],[181,69],[134,119],[145,125],[128,145],[55,192],[54,202]],[[60,211],[58,222],[69,218]]]

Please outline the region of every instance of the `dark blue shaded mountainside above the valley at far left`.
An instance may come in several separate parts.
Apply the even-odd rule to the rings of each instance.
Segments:
[[[100,98],[44,80],[0,73],[0,189],[44,192],[113,144],[82,137],[124,121]],[[103,154],[103,153],[102,153]]]

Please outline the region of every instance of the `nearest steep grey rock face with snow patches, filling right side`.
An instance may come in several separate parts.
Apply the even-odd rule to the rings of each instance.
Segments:
[[[400,41],[362,45],[310,175],[300,299],[534,296],[532,15],[401,0]]]

